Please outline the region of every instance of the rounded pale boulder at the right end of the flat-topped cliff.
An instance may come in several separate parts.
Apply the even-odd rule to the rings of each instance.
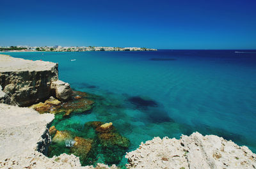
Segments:
[[[55,92],[56,98],[67,101],[72,97],[72,89],[68,83],[61,80],[56,80],[52,82],[51,89]]]

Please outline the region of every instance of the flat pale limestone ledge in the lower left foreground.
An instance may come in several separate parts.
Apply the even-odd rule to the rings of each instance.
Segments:
[[[51,141],[48,126],[52,114],[38,114],[31,108],[0,103],[0,168],[93,169],[81,166],[73,154],[47,158],[42,152]],[[40,152],[38,152],[40,151]],[[96,168],[117,169],[115,165],[97,164]]]

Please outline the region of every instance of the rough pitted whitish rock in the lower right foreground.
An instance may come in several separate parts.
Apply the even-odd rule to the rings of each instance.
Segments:
[[[180,140],[155,137],[127,153],[127,168],[256,168],[248,147],[215,135],[193,133]]]

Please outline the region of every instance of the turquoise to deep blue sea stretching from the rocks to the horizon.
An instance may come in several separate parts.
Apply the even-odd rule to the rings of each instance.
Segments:
[[[61,80],[103,96],[111,106],[62,122],[113,122],[130,150],[154,136],[198,131],[256,152],[256,50],[5,54],[58,62]]]

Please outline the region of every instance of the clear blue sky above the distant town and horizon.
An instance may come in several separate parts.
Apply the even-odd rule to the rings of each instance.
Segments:
[[[0,46],[256,49],[255,0],[0,0]]]

